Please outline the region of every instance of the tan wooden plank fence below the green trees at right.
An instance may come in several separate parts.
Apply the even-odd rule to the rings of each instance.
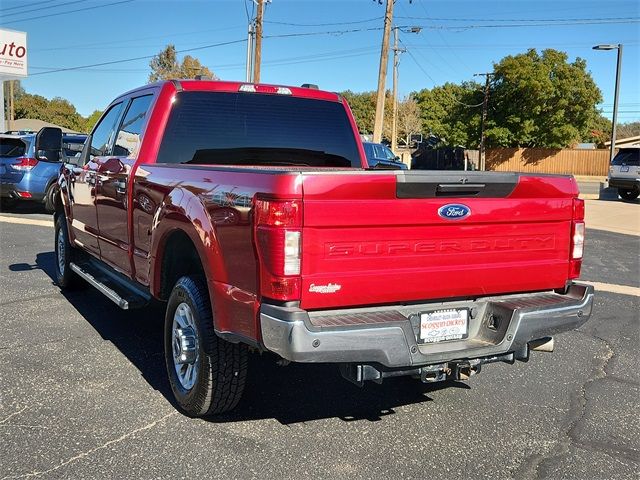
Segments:
[[[487,150],[487,170],[606,176],[609,150],[496,148]]]

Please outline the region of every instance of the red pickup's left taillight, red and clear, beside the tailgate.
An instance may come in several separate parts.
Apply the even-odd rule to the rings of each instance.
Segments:
[[[260,260],[260,294],[280,301],[299,300],[302,203],[257,198],[254,222]]]

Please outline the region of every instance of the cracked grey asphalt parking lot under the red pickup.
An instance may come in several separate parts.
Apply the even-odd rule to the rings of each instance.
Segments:
[[[362,389],[256,357],[238,409],[194,420],[171,403],[162,312],[63,295],[49,218],[0,214],[0,479],[638,478],[640,236],[588,230],[583,279],[604,286],[554,353]]]

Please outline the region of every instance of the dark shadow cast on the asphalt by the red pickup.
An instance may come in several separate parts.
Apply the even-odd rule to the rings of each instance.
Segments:
[[[12,271],[41,269],[55,282],[53,252],[39,253],[35,265],[14,264]],[[147,383],[176,407],[167,380],[163,352],[164,305],[121,310],[89,286],[62,293],[100,336],[116,346]],[[428,402],[430,392],[470,388],[461,382],[422,384],[391,378],[363,388],[344,380],[335,365],[290,364],[279,367],[275,355],[251,355],[245,393],[233,412],[206,419],[214,423],[273,418],[287,425],[323,418],[345,422],[379,421],[398,407]]]

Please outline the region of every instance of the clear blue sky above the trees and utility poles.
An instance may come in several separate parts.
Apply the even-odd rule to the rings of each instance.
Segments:
[[[244,80],[252,8],[251,0],[0,0],[0,28],[27,32],[27,92],[66,98],[88,116],[147,83],[150,57],[169,43],[221,79]],[[384,9],[378,0],[272,0],[261,81],[375,90]],[[616,51],[592,46],[622,43],[618,119],[637,121],[639,22],[637,0],[396,0],[394,24],[422,27],[400,33],[398,91],[472,80],[504,56],[555,48],[586,60],[611,118]]]

